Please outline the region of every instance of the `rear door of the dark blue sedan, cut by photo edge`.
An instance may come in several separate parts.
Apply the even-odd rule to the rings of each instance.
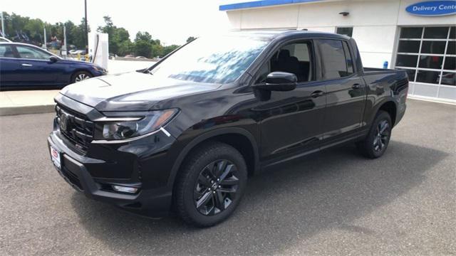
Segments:
[[[9,44],[0,44],[0,86],[15,86],[21,78],[19,71],[21,63],[14,47]]]

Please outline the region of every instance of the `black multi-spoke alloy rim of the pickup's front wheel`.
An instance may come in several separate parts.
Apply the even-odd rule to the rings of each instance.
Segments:
[[[193,192],[195,207],[202,215],[212,216],[231,206],[239,187],[237,166],[228,160],[217,160],[199,172]]]

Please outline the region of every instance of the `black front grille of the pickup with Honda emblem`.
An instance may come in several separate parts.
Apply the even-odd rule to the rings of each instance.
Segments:
[[[84,114],[74,112],[61,105],[56,105],[57,123],[60,132],[76,148],[87,151],[88,145],[93,140],[95,125]]]

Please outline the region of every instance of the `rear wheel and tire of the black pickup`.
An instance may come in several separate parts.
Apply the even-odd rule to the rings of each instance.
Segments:
[[[382,156],[390,142],[392,127],[390,114],[380,110],[373,120],[366,139],[356,143],[361,154],[370,159]]]

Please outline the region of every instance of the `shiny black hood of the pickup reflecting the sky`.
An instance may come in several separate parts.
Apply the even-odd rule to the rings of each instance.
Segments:
[[[219,86],[131,72],[90,78],[68,85],[60,93],[98,111],[146,111],[162,100],[217,90]]]

